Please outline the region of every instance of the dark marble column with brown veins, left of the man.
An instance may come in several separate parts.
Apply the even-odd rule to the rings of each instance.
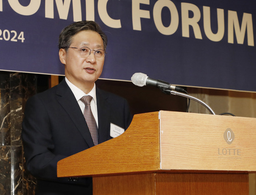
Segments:
[[[33,195],[35,179],[24,168],[21,123],[34,74],[0,71],[0,195]]]

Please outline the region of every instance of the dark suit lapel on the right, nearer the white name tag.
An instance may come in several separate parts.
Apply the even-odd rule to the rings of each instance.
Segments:
[[[99,144],[110,139],[110,108],[107,103],[107,96],[103,95],[102,91],[96,88],[97,96],[97,111],[99,122]]]

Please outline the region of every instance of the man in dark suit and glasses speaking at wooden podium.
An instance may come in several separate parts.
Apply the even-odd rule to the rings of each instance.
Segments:
[[[91,178],[57,178],[57,162],[112,139],[111,124],[122,132],[131,123],[126,100],[95,86],[106,46],[106,35],[93,21],[64,28],[59,36],[59,58],[65,79],[27,101],[21,136],[27,169],[37,178],[38,195],[91,195]],[[81,98],[87,95],[92,97],[96,141],[85,121],[86,105]]]

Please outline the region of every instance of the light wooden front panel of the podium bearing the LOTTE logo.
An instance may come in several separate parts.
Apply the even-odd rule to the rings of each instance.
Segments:
[[[160,111],[160,169],[256,170],[256,118]]]

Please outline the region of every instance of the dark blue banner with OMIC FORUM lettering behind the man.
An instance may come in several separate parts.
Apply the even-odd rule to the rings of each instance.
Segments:
[[[109,40],[101,78],[256,91],[255,10],[253,0],[0,0],[0,70],[64,75],[60,31],[93,20]]]

